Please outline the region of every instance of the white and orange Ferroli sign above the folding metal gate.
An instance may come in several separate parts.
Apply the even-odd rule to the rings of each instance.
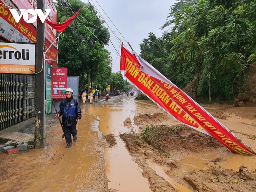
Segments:
[[[36,44],[0,42],[0,73],[33,74],[35,51]]]

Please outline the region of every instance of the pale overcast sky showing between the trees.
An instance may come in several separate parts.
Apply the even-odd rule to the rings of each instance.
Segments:
[[[88,3],[88,1],[83,0]],[[162,36],[163,30],[159,30],[166,22],[167,14],[170,12],[175,0],[89,0],[94,5],[103,19],[110,26],[111,30],[119,31],[115,33],[124,42],[124,46],[131,52],[130,42],[136,53],[140,53],[139,44],[144,38],[148,38],[148,33],[154,32],[157,37]],[[106,14],[105,14],[105,13]],[[109,17],[109,18],[108,18]],[[113,24],[112,24],[113,22]],[[105,25],[106,26],[106,25]],[[109,30],[110,30],[109,28]],[[117,28],[117,29],[116,29]],[[121,54],[120,43],[116,40],[113,32],[110,32],[110,40],[116,50]],[[110,46],[105,47],[111,52],[114,66],[113,72],[119,71],[120,56],[109,42]]]

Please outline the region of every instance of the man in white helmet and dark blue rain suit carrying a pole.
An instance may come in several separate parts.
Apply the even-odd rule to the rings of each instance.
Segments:
[[[76,124],[82,117],[82,112],[78,103],[78,100],[73,98],[73,90],[71,88],[66,88],[65,90],[66,99],[60,103],[60,110],[57,117],[62,116],[62,125],[65,140],[67,143],[66,148],[70,148],[72,145],[71,134],[73,136],[74,142],[76,142],[77,130]]]

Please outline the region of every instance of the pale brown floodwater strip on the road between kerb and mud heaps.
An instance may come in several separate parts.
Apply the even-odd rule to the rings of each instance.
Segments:
[[[134,98],[121,95],[104,101],[102,106],[98,103],[95,104],[96,107],[93,105],[89,106],[88,113],[100,117],[100,132],[103,135],[114,134],[117,142],[116,146],[104,149],[108,188],[123,192],[150,192],[148,181],[142,176],[142,170],[132,161],[124,142],[119,137],[119,134],[124,132],[138,131],[124,127],[123,123],[128,117],[132,120],[136,114]]]

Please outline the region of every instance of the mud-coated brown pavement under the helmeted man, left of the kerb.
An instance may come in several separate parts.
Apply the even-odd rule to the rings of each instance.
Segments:
[[[92,130],[97,121],[95,116],[85,115],[85,110],[83,114],[77,126],[78,139],[68,149],[65,140],[61,139],[63,132],[56,118],[57,124],[52,128],[55,129],[54,135],[46,139],[46,148],[13,155],[0,154],[4,159],[0,163],[0,191],[93,191],[97,186],[107,188],[104,162],[98,157],[100,153],[104,156],[103,149],[91,147],[98,145],[98,140],[94,139],[98,138],[98,132]]]

